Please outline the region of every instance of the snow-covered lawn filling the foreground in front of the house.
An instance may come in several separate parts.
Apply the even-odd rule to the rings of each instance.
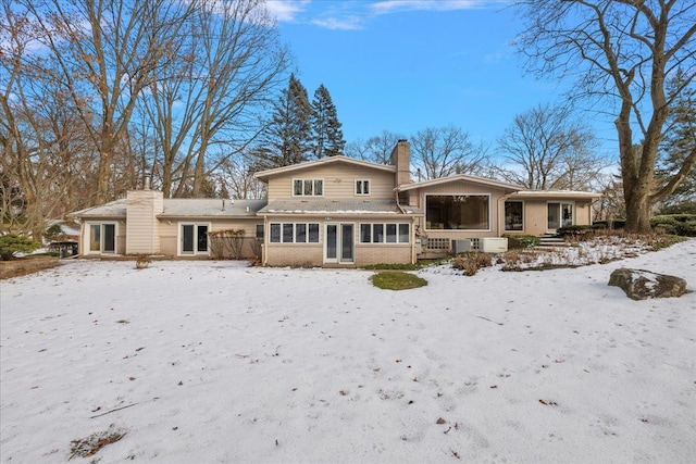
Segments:
[[[696,290],[696,240],[554,271],[70,261],[3,280],[0,457],[114,463],[687,463],[696,293],[632,301],[611,271]]]

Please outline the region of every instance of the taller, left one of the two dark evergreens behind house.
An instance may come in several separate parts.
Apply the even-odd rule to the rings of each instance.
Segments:
[[[311,105],[307,89],[290,75],[288,86],[273,104],[271,122],[254,151],[257,170],[289,166],[308,161],[311,153]]]

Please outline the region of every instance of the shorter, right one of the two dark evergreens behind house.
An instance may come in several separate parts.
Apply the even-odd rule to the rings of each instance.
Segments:
[[[340,130],[336,106],[324,85],[314,91],[312,100],[312,154],[315,159],[343,154],[346,140]]]

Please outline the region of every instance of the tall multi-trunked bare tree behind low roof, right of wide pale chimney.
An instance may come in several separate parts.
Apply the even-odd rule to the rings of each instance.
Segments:
[[[206,176],[246,149],[288,66],[260,0],[200,0],[183,29],[179,59],[169,60],[144,95],[166,197],[187,188],[200,196]]]

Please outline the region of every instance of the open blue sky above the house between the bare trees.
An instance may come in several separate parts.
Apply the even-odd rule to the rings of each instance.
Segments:
[[[558,83],[525,76],[510,45],[509,1],[269,1],[310,98],[323,84],[345,139],[410,136],[455,125],[495,140],[517,114],[562,98]],[[610,123],[609,123],[610,124]],[[611,138],[612,127],[597,127]]]

